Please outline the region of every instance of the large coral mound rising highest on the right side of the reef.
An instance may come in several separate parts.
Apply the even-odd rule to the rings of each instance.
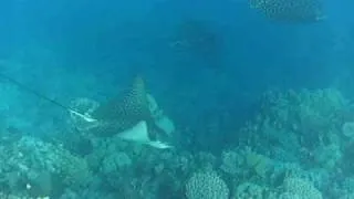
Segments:
[[[346,107],[345,97],[333,88],[269,92],[262,98],[261,114],[248,130],[264,136],[259,142],[313,148],[320,140],[337,142],[333,136],[340,135]]]

